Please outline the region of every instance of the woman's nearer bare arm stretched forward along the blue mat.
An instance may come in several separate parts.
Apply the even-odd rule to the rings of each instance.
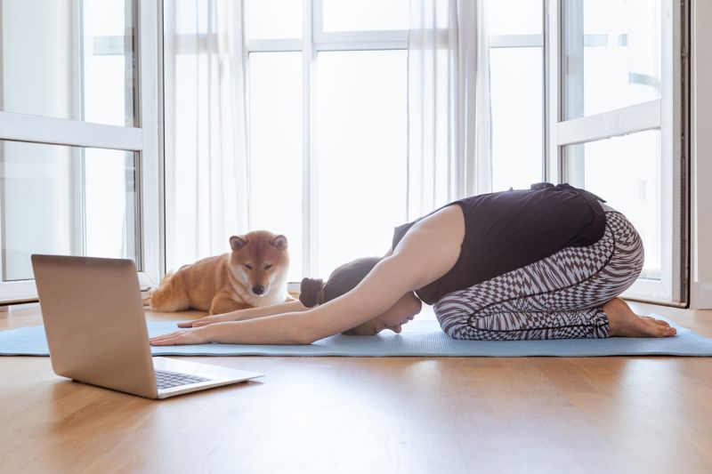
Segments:
[[[383,313],[405,293],[444,275],[457,261],[465,236],[459,206],[418,222],[392,256],[378,262],[352,291],[303,312],[215,323],[151,339],[154,345],[224,342],[311,344],[342,333]]]

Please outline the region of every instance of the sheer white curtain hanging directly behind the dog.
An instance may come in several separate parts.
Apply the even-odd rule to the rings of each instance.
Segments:
[[[166,0],[166,267],[230,250],[247,231],[241,0]]]

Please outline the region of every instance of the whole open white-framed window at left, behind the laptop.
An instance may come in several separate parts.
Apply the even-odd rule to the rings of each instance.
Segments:
[[[130,258],[156,280],[158,137],[142,127],[158,130],[158,12],[130,0],[0,11],[0,301],[36,298],[31,253]]]

